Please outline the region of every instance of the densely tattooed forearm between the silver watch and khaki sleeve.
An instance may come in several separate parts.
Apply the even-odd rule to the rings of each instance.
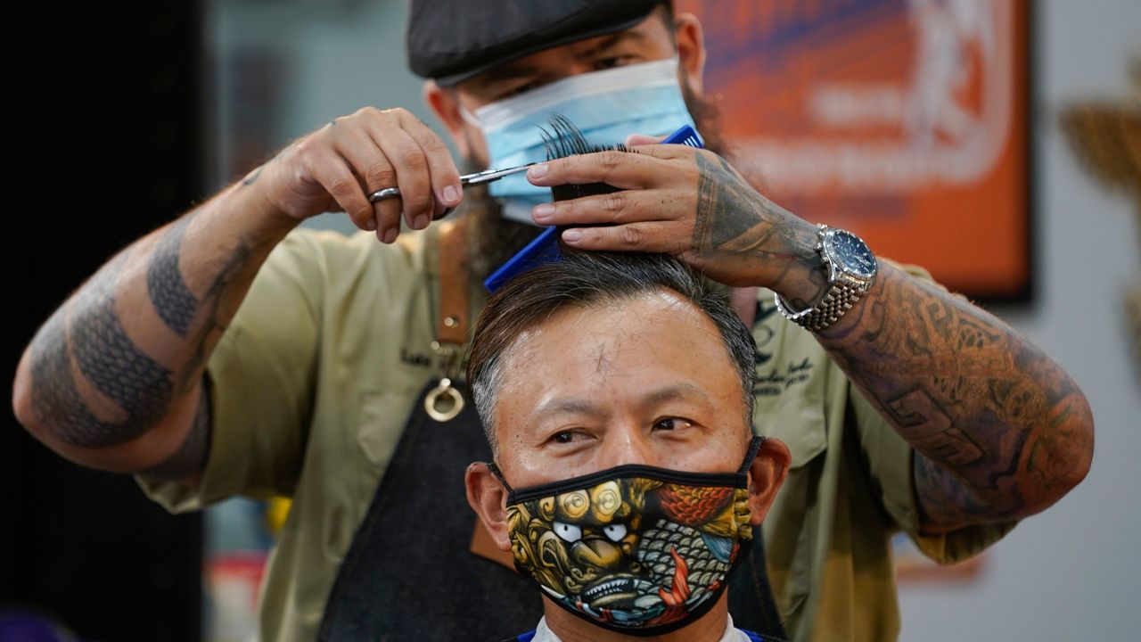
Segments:
[[[851,312],[822,344],[915,447],[931,530],[1036,513],[1085,475],[1089,406],[1018,332],[890,265]]]

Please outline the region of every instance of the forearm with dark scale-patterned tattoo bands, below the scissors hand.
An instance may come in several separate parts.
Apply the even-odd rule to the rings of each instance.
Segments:
[[[33,432],[49,446],[113,448],[171,419],[176,406],[187,408],[179,400],[193,390],[204,391],[210,351],[288,231],[276,223],[243,231],[236,216],[203,206],[123,250],[56,311],[27,351],[25,415],[33,420],[25,423],[38,426]],[[180,431],[191,426],[181,448],[171,446],[159,463],[160,454],[143,455],[136,470],[186,476],[201,468],[210,412],[207,393],[200,396],[196,411],[179,410],[186,419],[173,422]]]

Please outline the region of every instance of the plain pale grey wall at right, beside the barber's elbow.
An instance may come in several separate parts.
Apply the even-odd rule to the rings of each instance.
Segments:
[[[978,584],[903,592],[906,640],[1133,640],[1141,627],[1141,374],[1120,303],[1141,276],[1139,204],[1103,192],[1058,128],[1062,109],[1130,90],[1141,3],[1049,0],[1034,11],[1037,287],[1030,305],[993,310],[1082,386],[1095,419],[1093,467],[992,549]]]

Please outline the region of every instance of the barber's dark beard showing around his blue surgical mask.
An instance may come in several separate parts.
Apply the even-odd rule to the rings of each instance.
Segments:
[[[698,96],[685,78],[681,81],[681,96],[698,134],[705,141],[705,149],[721,157],[729,154],[729,145],[721,136],[717,105],[709,98]],[[466,161],[464,174],[487,169],[486,164],[478,167],[479,164],[484,163]],[[464,271],[471,286],[483,291],[484,280],[541,234],[544,227],[504,218],[499,202],[487,193],[486,186],[467,190],[463,202],[461,216],[468,239]]]

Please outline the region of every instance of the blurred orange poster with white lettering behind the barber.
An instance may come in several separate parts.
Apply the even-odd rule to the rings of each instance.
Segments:
[[[984,299],[1029,294],[1026,0],[679,0],[741,169]]]

